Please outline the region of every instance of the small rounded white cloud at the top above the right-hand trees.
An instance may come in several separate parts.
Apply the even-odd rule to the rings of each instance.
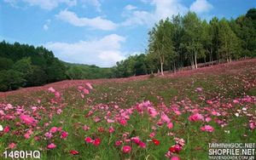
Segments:
[[[209,12],[212,8],[212,4],[208,3],[207,0],[195,0],[195,2],[191,4],[189,9],[197,14],[201,14]]]

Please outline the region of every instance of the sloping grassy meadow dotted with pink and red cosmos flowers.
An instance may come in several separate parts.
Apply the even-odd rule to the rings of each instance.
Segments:
[[[0,153],[207,159],[210,142],[256,142],[255,95],[256,59],[164,77],[65,81],[1,93]]]

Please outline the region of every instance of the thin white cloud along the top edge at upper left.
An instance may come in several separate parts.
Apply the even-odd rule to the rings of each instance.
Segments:
[[[4,0],[6,3],[10,3],[12,6],[17,6],[18,3],[26,3],[30,6],[39,6],[41,9],[55,9],[61,3],[67,4],[67,6],[74,6],[77,4],[77,0]]]

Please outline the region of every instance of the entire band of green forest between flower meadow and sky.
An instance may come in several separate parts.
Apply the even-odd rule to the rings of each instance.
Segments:
[[[148,48],[110,68],[70,64],[43,46],[0,43],[0,91],[64,79],[131,77],[178,71],[256,56],[256,9],[236,19],[201,20],[193,12],[160,20],[148,31]]]

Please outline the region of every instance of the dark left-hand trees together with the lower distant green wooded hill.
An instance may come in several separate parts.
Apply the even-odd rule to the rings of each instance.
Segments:
[[[111,68],[70,64],[55,58],[44,47],[0,43],[0,91],[40,86],[64,79],[112,77]]]

